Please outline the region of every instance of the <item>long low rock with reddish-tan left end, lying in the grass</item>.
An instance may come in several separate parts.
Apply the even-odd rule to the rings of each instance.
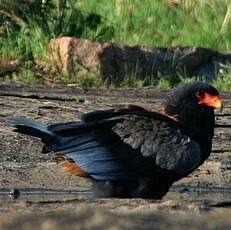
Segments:
[[[73,37],[52,39],[48,56],[49,63],[59,71],[92,71],[103,80],[123,79],[131,74],[144,79],[180,73],[211,81],[224,65],[231,63],[231,54],[202,47],[128,46]]]

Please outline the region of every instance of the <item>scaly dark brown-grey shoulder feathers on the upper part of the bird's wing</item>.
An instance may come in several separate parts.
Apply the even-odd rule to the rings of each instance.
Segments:
[[[144,157],[155,158],[161,169],[183,177],[191,173],[201,161],[199,145],[168,122],[130,116],[113,127],[124,143],[140,149]]]

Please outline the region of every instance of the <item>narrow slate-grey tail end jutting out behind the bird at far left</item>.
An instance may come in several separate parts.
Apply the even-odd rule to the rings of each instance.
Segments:
[[[25,117],[11,117],[7,122],[16,128],[14,131],[41,138],[45,144],[58,141],[57,135],[49,131],[46,124],[39,121]]]

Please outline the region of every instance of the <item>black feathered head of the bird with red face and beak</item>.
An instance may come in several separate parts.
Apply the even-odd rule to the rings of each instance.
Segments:
[[[174,88],[164,103],[164,112],[177,120],[214,119],[214,109],[222,108],[219,92],[204,82],[191,82]]]

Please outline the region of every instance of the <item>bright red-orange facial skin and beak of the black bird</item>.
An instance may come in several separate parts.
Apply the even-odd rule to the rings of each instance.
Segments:
[[[221,96],[220,95],[212,95],[209,93],[202,93],[202,95],[198,96],[200,105],[207,105],[213,108],[221,108]]]

